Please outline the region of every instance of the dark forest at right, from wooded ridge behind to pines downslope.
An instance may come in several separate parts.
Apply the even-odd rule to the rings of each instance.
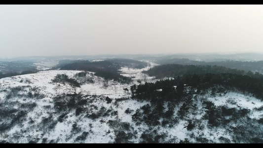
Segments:
[[[141,108],[133,115],[135,122],[146,122],[147,124],[161,124],[158,122],[160,117],[167,118],[174,114],[174,106],[182,104],[178,111],[179,116],[184,118],[190,107],[191,99],[196,96],[210,95],[224,96],[228,92],[238,92],[247,96],[254,96],[263,101],[263,75],[259,73],[245,72],[243,70],[229,69],[222,66],[194,66],[194,65],[161,65],[156,66],[145,72],[149,75],[161,77],[172,77],[165,80],[158,80],[155,83],[132,85],[130,87],[132,98],[138,101],[150,101],[150,105]],[[168,110],[163,111],[163,106],[168,102]],[[225,119],[219,120],[218,115],[224,113],[231,114],[230,109],[218,109],[221,113],[216,113],[216,107],[211,102],[204,102],[211,112],[208,112],[208,123],[211,126],[219,126]],[[212,109],[211,109],[212,108]],[[142,118],[142,113],[147,114]],[[245,115],[248,111],[240,110],[240,114]],[[243,111],[243,112],[242,112]],[[238,113],[238,112],[235,112]],[[263,120],[263,119],[261,119]],[[187,128],[191,128],[189,122]],[[262,141],[262,140],[261,140]]]

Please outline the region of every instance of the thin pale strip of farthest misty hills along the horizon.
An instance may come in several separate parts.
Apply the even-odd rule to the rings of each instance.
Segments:
[[[19,60],[31,60],[31,61],[44,61],[52,62],[63,59],[70,60],[95,60],[105,58],[126,58],[135,60],[158,60],[158,59],[170,59],[170,58],[187,58],[194,61],[225,61],[225,60],[237,60],[237,61],[260,61],[263,60],[262,53],[237,53],[237,54],[116,54],[116,55],[75,55],[75,56],[31,56],[31,57],[16,57],[16,58],[0,58],[0,61],[19,61]]]

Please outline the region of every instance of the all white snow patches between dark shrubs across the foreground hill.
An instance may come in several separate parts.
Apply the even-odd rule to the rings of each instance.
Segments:
[[[193,115],[189,115],[188,118],[178,120],[172,127],[156,126],[153,129],[149,129],[149,126],[145,123],[135,125],[132,121],[132,114],[142,106],[150,104],[150,102],[138,102],[128,99],[131,96],[130,91],[125,91],[124,88],[130,89],[131,85],[140,84],[137,80],[141,80],[141,83],[156,81],[154,77],[142,73],[155,65],[154,63],[150,63],[150,66],[144,69],[122,68],[120,70],[121,74],[132,77],[134,80],[130,84],[121,84],[113,80],[105,81],[102,77],[95,76],[92,72],[89,72],[86,77],[91,78],[94,83],[85,83],[80,87],[52,82],[52,79],[54,79],[57,74],[67,74],[69,78],[74,78],[75,74],[82,71],[52,70],[41,71],[36,74],[2,78],[0,79],[1,107],[7,107],[6,103],[11,102],[14,102],[11,107],[16,110],[19,110],[21,104],[34,104],[35,107],[32,108],[32,110],[28,110],[24,120],[14,124],[14,126],[5,132],[0,131],[0,141],[9,143],[28,143],[29,141],[36,143],[113,143],[116,131],[114,125],[110,126],[109,124],[113,121],[120,124],[119,126],[128,123],[128,125],[132,127],[130,131],[137,132],[139,136],[130,139],[133,143],[139,143],[140,135],[146,130],[157,130],[160,133],[167,133],[167,139],[173,139],[173,141],[170,141],[171,143],[179,143],[185,139],[190,140],[193,135],[202,135],[216,143],[220,143],[218,140],[220,137],[231,140],[227,130],[215,129],[211,131],[206,127],[207,121],[201,121],[202,115],[204,114],[204,110],[201,108],[198,108],[197,111],[199,112],[192,112]],[[9,98],[10,100],[7,100],[7,95],[11,92],[12,88],[20,86],[24,86],[22,91],[18,91],[20,95],[11,96]],[[32,91],[33,89],[38,91],[40,98],[27,98],[25,97],[26,95],[23,96],[23,94],[28,94],[29,92],[32,92],[34,95],[35,92]],[[92,113],[93,110],[98,112],[105,109],[105,111],[109,111],[114,115],[99,116],[98,118],[92,119],[86,117],[89,112],[87,114],[80,113],[76,115],[73,111],[65,112],[63,120],[58,122],[57,120],[61,117],[61,114],[54,109],[53,98],[58,95],[74,93],[81,93],[83,96],[88,95],[88,97],[86,97],[88,104],[84,106],[87,112],[91,111]],[[92,98],[92,95],[100,97]],[[105,97],[111,98],[113,100],[112,103],[107,103]],[[239,93],[227,93],[222,97],[208,96],[207,100],[213,102],[215,106],[225,105],[229,108],[249,109],[253,111],[249,114],[251,118],[263,118],[263,111],[254,111],[255,108],[263,107],[263,102],[254,97],[244,96]],[[178,111],[180,106],[181,105],[177,106],[175,110]],[[125,111],[127,109],[129,109],[131,113],[126,113]],[[117,113],[114,113],[114,111],[117,111]],[[177,115],[174,114],[174,116]],[[186,128],[188,119],[200,120],[200,129],[188,131]],[[1,119],[0,121],[3,122]],[[52,130],[40,127],[40,125],[43,125],[43,121],[47,121],[45,122],[47,125],[53,125]],[[201,125],[204,126],[202,129]],[[192,140],[192,142],[195,141]]]

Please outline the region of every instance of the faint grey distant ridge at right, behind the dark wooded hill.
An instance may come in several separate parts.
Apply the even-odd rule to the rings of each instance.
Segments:
[[[179,59],[161,59],[156,60],[155,63],[160,65],[165,64],[181,64],[181,65],[217,65],[217,66],[224,66],[226,68],[231,69],[238,69],[244,71],[257,71],[263,72],[263,61],[234,61],[234,60],[227,60],[227,61],[214,61],[214,62],[204,62],[204,61],[194,61],[189,60],[186,58]]]

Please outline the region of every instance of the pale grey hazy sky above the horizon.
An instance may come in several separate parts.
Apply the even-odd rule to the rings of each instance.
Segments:
[[[0,5],[0,57],[263,52],[263,5]]]

